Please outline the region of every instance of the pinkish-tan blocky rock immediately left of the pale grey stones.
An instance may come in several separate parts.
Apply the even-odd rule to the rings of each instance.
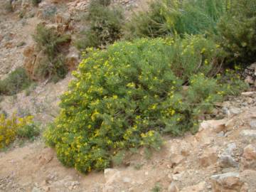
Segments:
[[[216,153],[216,149],[214,149],[214,148],[206,149],[203,152],[203,154],[199,157],[199,163],[203,167],[213,165],[217,161],[218,161],[218,156],[217,156],[217,153]]]

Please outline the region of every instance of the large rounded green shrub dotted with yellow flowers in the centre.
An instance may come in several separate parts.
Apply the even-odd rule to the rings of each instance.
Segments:
[[[45,132],[58,159],[82,172],[111,166],[125,149],[159,149],[161,134],[195,131],[198,117],[224,95],[223,85],[210,78],[222,50],[203,36],[87,51]],[[187,91],[183,85],[190,85]]]

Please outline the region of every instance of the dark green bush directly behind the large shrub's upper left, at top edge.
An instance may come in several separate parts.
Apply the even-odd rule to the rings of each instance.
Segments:
[[[79,49],[87,47],[102,48],[114,43],[122,36],[124,16],[121,9],[107,6],[110,1],[91,1],[87,14],[90,28],[82,31],[76,42]]]

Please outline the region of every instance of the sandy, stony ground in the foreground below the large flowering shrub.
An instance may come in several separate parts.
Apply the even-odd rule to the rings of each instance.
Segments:
[[[255,191],[256,92],[220,104],[218,120],[184,137],[166,137],[151,159],[138,151],[126,166],[79,174],[41,141],[0,156],[1,191]]]

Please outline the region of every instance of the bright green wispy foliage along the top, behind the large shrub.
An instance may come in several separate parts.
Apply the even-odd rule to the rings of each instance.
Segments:
[[[223,0],[156,1],[149,11],[134,14],[125,31],[127,38],[215,33],[225,11]]]

